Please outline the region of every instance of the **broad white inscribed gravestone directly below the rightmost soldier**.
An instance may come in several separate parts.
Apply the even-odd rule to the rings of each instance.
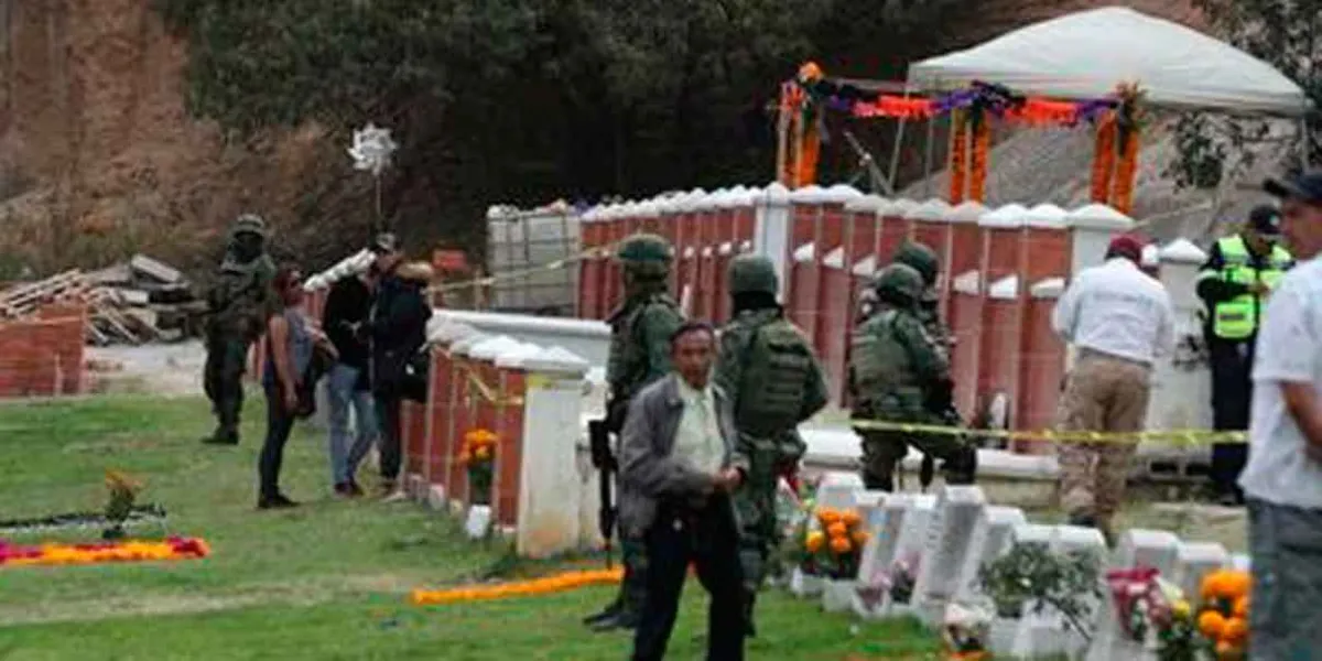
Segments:
[[[958,591],[960,571],[985,509],[986,496],[977,486],[947,485],[937,496],[914,587],[914,607],[928,624],[939,623],[945,604]]]

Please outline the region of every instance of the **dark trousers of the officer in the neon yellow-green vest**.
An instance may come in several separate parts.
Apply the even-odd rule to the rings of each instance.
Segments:
[[[1207,342],[1212,369],[1212,428],[1244,431],[1248,428],[1249,405],[1253,399],[1253,342]],[[1235,484],[1248,463],[1248,444],[1218,443],[1212,446],[1212,488],[1218,494],[1241,497]]]

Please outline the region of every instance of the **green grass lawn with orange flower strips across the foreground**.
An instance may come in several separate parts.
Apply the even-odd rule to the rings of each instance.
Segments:
[[[141,501],[167,508],[169,534],[202,537],[213,550],[176,563],[0,568],[0,660],[627,657],[627,637],[579,624],[608,588],[408,605],[411,588],[508,564],[506,549],[465,542],[453,522],[411,504],[332,498],[321,434],[296,431],[286,455],[286,490],[305,506],[255,512],[260,402],[246,418],[239,448],[213,448],[197,442],[210,428],[200,399],[0,405],[0,518],[98,510],[104,471],[122,469],[147,483]],[[79,539],[9,541],[52,538]],[[705,604],[690,584],[672,658],[702,657]],[[780,592],[759,611],[750,658],[937,658],[935,637],[914,623],[855,624]]]

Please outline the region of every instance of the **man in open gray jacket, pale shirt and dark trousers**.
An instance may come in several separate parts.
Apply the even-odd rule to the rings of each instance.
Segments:
[[[644,539],[648,592],[633,660],[665,657],[689,563],[711,595],[707,658],[743,658],[739,526],[730,494],[748,459],[736,449],[730,399],[711,383],[715,330],[689,323],[670,336],[674,371],[629,405],[620,442],[620,525]]]

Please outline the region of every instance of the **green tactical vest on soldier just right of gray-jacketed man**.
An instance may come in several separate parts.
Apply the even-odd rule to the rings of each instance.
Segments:
[[[754,328],[742,362],[742,382],[735,394],[739,431],[769,436],[793,430],[817,371],[804,336],[784,317],[775,317]]]

